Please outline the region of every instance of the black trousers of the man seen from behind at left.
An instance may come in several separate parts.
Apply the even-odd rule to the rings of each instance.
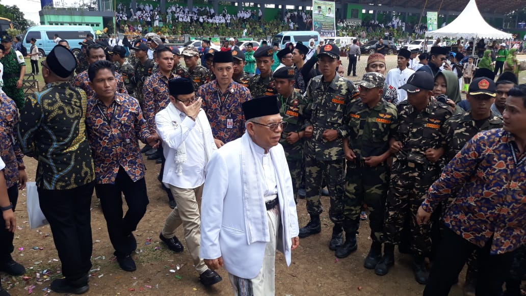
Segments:
[[[42,213],[49,222],[62,263],[62,274],[70,282],[85,279],[92,268],[91,211],[95,182],[73,189],[37,187]]]

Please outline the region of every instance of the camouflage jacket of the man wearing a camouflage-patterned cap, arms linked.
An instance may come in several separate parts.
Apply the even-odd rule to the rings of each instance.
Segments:
[[[369,108],[361,100],[348,105],[349,148],[357,159],[379,156],[389,150],[389,139],[398,128],[396,106],[381,99],[375,107]]]

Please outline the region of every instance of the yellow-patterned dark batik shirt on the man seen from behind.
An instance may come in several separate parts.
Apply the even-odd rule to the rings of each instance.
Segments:
[[[26,155],[38,160],[37,187],[73,189],[95,179],[84,123],[86,105],[86,93],[62,81],[27,97],[18,142]]]

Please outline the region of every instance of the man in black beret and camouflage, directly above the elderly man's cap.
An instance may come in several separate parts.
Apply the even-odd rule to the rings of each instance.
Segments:
[[[248,89],[252,98],[264,96],[274,96],[278,92],[272,82],[271,66],[274,63],[274,50],[270,46],[260,46],[254,53],[256,58],[256,67],[260,74],[250,77],[248,80]]]

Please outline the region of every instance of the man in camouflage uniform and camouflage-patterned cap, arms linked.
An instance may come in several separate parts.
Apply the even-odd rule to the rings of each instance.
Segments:
[[[398,113],[395,105],[382,99],[385,85],[382,74],[363,74],[356,84],[360,90],[360,99],[347,108],[349,137],[343,140],[347,159],[343,228],[349,231],[346,232],[343,247],[336,250],[336,257],[345,258],[357,249],[356,234],[361,206],[367,203],[372,243],[363,266],[374,269],[382,257],[380,235],[389,188],[389,139],[398,126]]]

